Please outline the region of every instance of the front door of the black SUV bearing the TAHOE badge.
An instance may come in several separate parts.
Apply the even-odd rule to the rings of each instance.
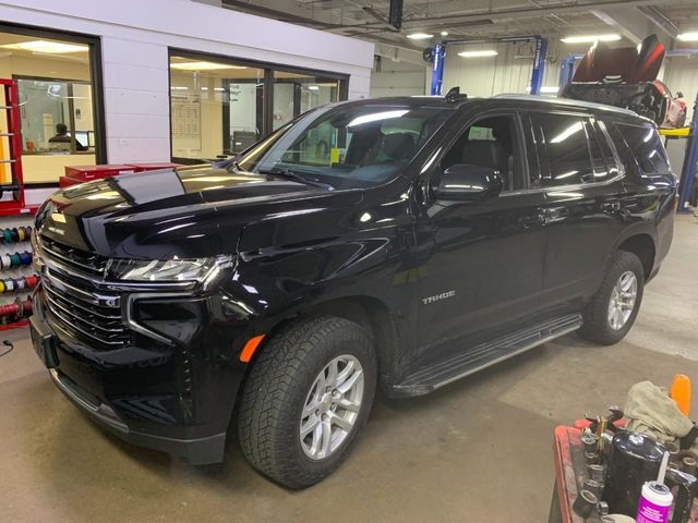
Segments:
[[[539,308],[545,255],[544,195],[527,188],[528,166],[515,113],[481,117],[446,149],[435,178],[456,163],[493,168],[498,196],[444,202],[418,217],[419,348],[462,351],[514,329]]]

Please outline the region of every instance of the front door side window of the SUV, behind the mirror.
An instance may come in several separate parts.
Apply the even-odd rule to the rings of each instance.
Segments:
[[[504,191],[524,188],[518,125],[514,115],[486,117],[469,125],[441,162],[442,170],[456,163],[494,169]]]

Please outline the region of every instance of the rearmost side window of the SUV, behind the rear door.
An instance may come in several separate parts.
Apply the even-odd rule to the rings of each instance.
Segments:
[[[642,174],[671,172],[666,150],[653,125],[611,124],[613,141],[626,166],[636,163]]]

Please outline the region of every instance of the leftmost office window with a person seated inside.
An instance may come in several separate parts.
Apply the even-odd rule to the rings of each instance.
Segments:
[[[22,165],[26,184],[56,183],[64,167],[101,157],[89,39],[47,37],[29,29],[0,31],[0,76],[17,83]],[[3,111],[4,112],[4,111]],[[5,132],[4,113],[0,132]],[[0,154],[9,142],[3,138]],[[3,182],[9,170],[0,172]]]

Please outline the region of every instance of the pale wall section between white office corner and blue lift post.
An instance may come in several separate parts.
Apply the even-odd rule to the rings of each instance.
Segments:
[[[374,62],[371,73],[371,98],[425,95],[428,78],[431,80],[431,66],[426,62],[418,65],[383,57],[380,65],[377,60]]]

